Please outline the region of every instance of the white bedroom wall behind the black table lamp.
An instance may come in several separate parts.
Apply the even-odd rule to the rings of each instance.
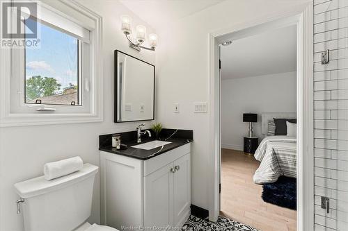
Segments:
[[[296,71],[222,80],[221,142],[223,148],[243,150],[248,123],[243,113],[258,114],[254,135],[261,141],[262,112],[296,112]]]

